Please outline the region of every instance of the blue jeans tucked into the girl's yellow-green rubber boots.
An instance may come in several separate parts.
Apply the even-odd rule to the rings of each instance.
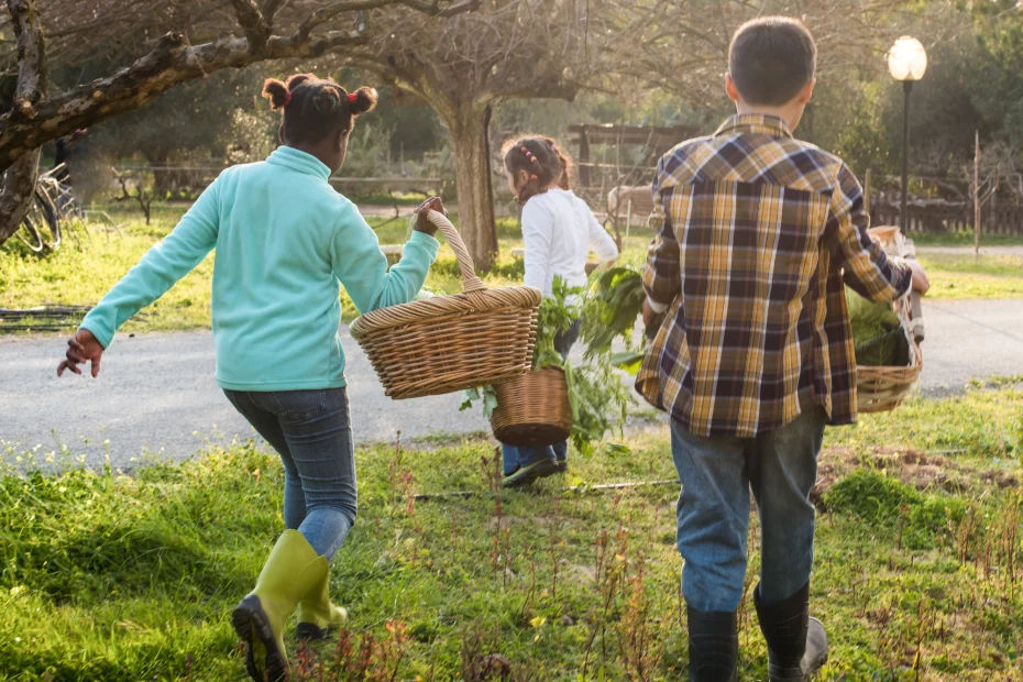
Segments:
[[[344,388],[224,391],[284,462],[284,526],[330,560],[348,537],[359,497]]]

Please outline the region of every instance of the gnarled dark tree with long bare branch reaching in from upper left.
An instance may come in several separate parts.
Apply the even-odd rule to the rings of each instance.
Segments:
[[[223,68],[268,59],[314,58],[367,44],[353,21],[391,4],[409,16],[452,16],[475,0],[7,0],[16,73],[13,101],[0,116],[0,243],[18,229],[35,184],[38,150],[69,132],[132,111],[176,85]],[[341,28],[341,26],[344,28]],[[45,31],[44,31],[45,28]],[[161,37],[162,36],[162,37]],[[90,82],[48,94],[47,69],[98,62],[121,64]],[[19,160],[23,160],[20,161]],[[15,165],[16,164],[16,165]]]

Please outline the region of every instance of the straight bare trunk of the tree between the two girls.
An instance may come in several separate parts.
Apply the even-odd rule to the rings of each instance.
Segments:
[[[476,270],[488,270],[497,256],[497,226],[494,222],[494,190],[491,184],[490,105],[459,112],[448,121],[454,146],[454,175],[458,189],[459,231]]]

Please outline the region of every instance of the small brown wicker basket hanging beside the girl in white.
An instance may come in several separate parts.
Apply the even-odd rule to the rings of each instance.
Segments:
[[[557,367],[527,372],[494,386],[497,408],[491,415],[494,438],[507,446],[541,448],[561,442],[572,429],[572,406],[564,372]]]

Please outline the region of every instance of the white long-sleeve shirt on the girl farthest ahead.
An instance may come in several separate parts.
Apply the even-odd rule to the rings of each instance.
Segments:
[[[551,295],[556,276],[570,287],[585,286],[586,258],[593,249],[602,263],[618,257],[614,240],[586,202],[564,189],[548,189],[522,207],[526,286]]]

